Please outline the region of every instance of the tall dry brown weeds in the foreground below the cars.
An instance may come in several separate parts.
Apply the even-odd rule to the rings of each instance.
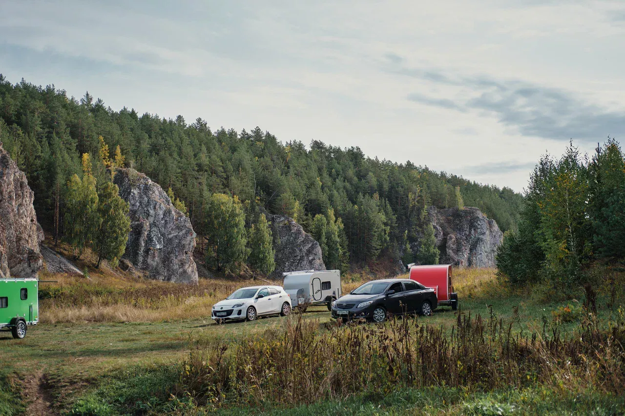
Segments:
[[[458,315],[447,332],[413,319],[387,325],[322,325],[292,316],[234,344],[192,349],[181,368],[179,397],[199,405],[314,403],[397,387],[462,387],[467,391],[625,390],[625,327],[596,325],[576,334],[514,334],[511,322]]]

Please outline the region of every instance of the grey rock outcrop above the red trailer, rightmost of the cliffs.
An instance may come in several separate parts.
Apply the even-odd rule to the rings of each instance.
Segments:
[[[487,219],[474,207],[431,207],[428,215],[434,226],[436,245],[441,251],[439,263],[495,267],[497,247],[503,239],[495,220]]]

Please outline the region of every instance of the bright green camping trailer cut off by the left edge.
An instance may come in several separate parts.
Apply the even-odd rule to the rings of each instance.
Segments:
[[[0,330],[10,330],[13,338],[26,337],[28,325],[39,322],[37,279],[0,279]]]

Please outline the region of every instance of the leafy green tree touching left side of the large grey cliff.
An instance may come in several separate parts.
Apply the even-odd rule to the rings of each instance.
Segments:
[[[98,264],[108,260],[111,267],[118,265],[126,252],[126,242],[130,233],[128,202],[119,197],[119,188],[105,182],[98,194],[99,228],[94,240],[94,251],[98,254]]]

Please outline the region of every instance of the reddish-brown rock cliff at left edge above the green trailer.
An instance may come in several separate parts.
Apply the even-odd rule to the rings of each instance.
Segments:
[[[36,277],[43,259],[43,232],[26,176],[0,143],[0,278]]]

